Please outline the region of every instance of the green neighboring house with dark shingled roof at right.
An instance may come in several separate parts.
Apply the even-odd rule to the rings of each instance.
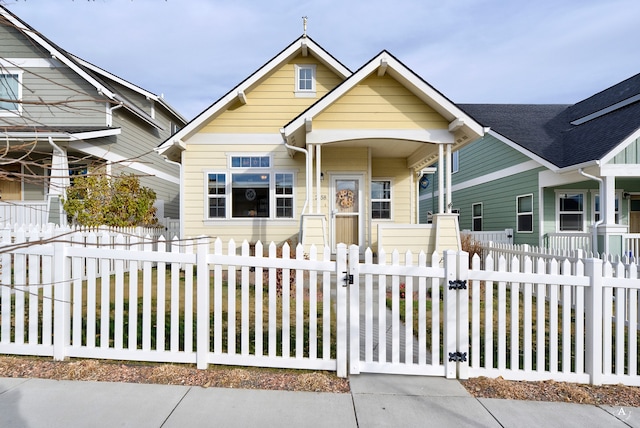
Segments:
[[[515,244],[637,256],[640,74],[573,105],[459,104],[489,128],[452,153],[460,228],[513,229]],[[435,165],[434,165],[435,166]],[[438,173],[420,182],[421,222]]]

